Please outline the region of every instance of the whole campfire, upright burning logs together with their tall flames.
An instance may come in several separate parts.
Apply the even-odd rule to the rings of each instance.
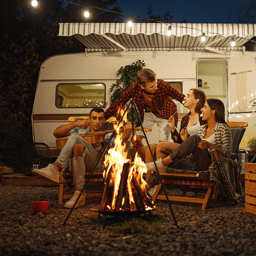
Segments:
[[[126,120],[126,115],[123,120]],[[105,182],[98,211],[151,211],[155,205],[143,179],[143,174],[147,172],[146,165],[137,152],[134,158],[127,158],[125,145],[121,143],[122,125],[123,122],[114,126],[117,132],[115,146],[105,156]]]

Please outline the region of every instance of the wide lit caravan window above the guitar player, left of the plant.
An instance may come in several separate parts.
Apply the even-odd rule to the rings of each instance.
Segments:
[[[105,103],[106,86],[103,83],[58,84],[58,108],[94,108]]]

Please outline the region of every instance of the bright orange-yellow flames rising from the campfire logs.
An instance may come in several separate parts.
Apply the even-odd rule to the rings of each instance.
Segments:
[[[120,114],[123,115],[123,110],[120,110]],[[113,185],[113,194],[112,194],[112,201],[110,205],[107,205],[107,208],[110,211],[114,211],[115,205],[116,205],[116,200],[117,200],[117,195],[118,195],[118,189],[120,186],[120,181],[121,181],[121,175],[123,172],[123,165],[126,163],[130,163],[130,159],[127,159],[127,152],[125,151],[125,143],[122,143],[122,135],[120,132],[120,128],[123,126],[123,123],[127,122],[127,113],[123,117],[123,122],[120,122],[119,125],[114,125],[114,129],[116,130],[117,136],[115,139],[115,146],[113,148],[110,148],[108,150],[108,154],[105,155],[105,170],[103,173],[103,176],[106,181],[106,177],[108,177],[109,172],[111,174],[111,180],[110,184],[111,186]],[[133,165],[131,166],[129,173],[128,173],[128,178],[127,178],[127,190],[129,194],[129,204],[131,205],[134,203],[134,198],[133,198],[133,191],[132,191],[132,185],[131,185],[131,180],[133,177],[136,178],[136,182],[138,183],[140,189],[144,192],[144,195],[148,197],[148,200],[151,201],[153,204],[152,198],[149,195],[147,188],[146,188],[146,181],[143,179],[143,174],[147,172],[146,165],[142,161],[142,159],[138,156],[138,152],[136,152],[135,157],[134,157],[134,162]],[[121,205],[123,206],[125,204],[125,197],[122,198],[122,203]],[[152,207],[148,207],[146,203],[144,203],[144,208],[146,211],[151,210]],[[153,206],[155,208],[155,206]],[[122,211],[122,208],[119,209]]]

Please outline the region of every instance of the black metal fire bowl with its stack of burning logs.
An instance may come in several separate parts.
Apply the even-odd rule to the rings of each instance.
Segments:
[[[108,157],[113,160],[111,155],[113,154]],[[116,161],[118,159],[116,157]],[[106,159],[106,161],[109,160]],[[146,170],[146,165],[137,154],[135,161],[128,159],[123,166],[120,165],[120,162],[112,161],[112,164],[108,165],[104,172],[105,182],[99,208],[90,210],[103,215],[127,216],[143,214],[156,209],[143,179],[143,173]]]

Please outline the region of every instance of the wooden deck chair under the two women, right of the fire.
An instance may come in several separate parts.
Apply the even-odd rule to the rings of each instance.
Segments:
[[[233,138],[233,153],[230,157],[235,160],[239,151],[239,144],[243,138],[243,134],[248,126],[247,122],[227,122],[231,128]],[[168,196],[169,201],[182,202],[182,203],[196,203],[202,204],[202,210],[208,208],[211,201],[214,184],[209,181],[209,170],[204,172],[193,172],[187,170],[177,170],[169,168],[172,173],[160,173],[164,185],[178,185],[181,186],[182,196]],[[157,176],[157,173],[154,172]],[[240,180],[240,179],[239,179]],[[156,193],[153,195],[155,203],[157,200],[166,200],[165,195],[161,195],[163,191],[161,183],[157,187]],[[205,194],[204,198],[186,197],[186,192],[192,191],[195,194]]]

